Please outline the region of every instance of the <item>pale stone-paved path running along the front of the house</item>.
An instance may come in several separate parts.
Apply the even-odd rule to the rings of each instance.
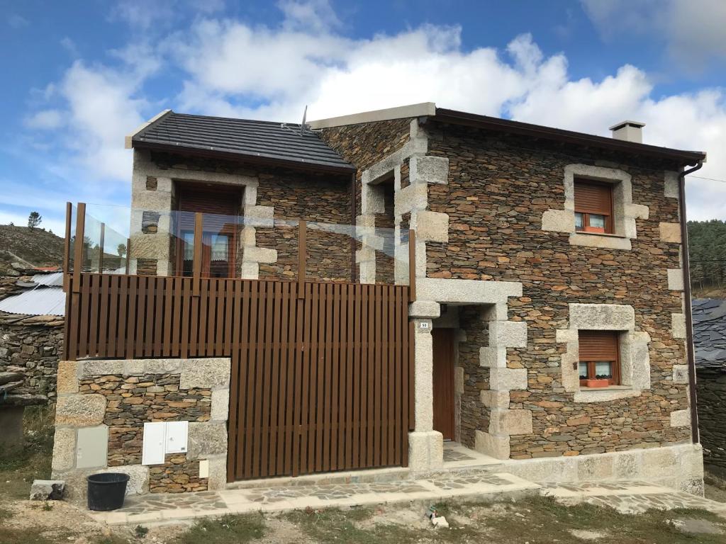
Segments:
[[[504,498],[514,493],[540,493],[561,503],[609,506],[624,514],[656,508],[703,508],[726,516],[726,503],[647,482],[583,482],[537,485],[507,473],[450,474],[433,479],[402,479],[377,483],[338,483],[249,487],[219,492],[159,494],[127,498],[120,510],[92,513],[107,524],[153,524],[201,516],[245,514],[420,500]]]

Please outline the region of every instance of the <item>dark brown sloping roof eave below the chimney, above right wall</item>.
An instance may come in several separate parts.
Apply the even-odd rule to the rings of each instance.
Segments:
[[[681,149],[658,147],[649,144],[638,144],[632,141],[611,139],[605,136],[566,131],[561,128],[532,125],[530,123],[521,123],[520,121],[458,112],[456,110],[446,110],[444,108],[436,108],[436,115],[431,116],[430,119],[440,123],[468,125],[492,131],[522,134],[524,136],[534,136],[588,147],[600,147],[602,149],[630,154],[643,154],[651,157],[675,160],[682,166],[693,166],[698,164],[698,162],[706,160],[706,154],[700,151],[683,151]]]

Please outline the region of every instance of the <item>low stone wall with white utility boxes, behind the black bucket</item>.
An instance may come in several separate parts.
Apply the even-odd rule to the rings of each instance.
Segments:
[[[102,471],[130,474],[129,495],[224,488],[229,368],[227,358],[61,361],[53,477],[73,499]],[[188,448],[144,466],[144,423],[153,421],[189,421]]]

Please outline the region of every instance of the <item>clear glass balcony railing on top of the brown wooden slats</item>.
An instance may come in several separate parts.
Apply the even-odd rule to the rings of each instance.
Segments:
[[[68,271],[297,280],[303,270],[306,280],[409,283],[405,229],[106,205],[86,205],[79,223],[79,209]]]

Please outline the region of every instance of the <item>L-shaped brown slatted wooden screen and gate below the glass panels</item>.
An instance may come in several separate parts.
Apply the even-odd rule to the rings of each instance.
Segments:
[[[409,287],[92,273],[68,281],[69,360],[232,358],[229,481],[407,466]]]

